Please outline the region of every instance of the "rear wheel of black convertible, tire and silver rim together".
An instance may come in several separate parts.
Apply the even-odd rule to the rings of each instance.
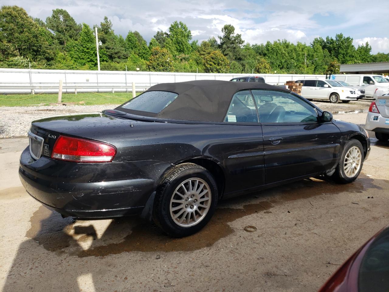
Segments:
[[[200,165],[184,163],[169,171],[161,182],[152,215],[167,234],[189,236],[209,222],[217,201],[217,185],[210,172]]]

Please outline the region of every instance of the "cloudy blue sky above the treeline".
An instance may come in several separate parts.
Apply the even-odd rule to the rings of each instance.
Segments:
[[[43,20],[52,9],[62,8],[77,23],[91,26],[108,16],[117,34],[125,37],[129,30],[137,30],[147,41],[177,20],[200,42],[217,38],[225,24],[232,24],[251,44],[277,39],[309,44],[317,36],[343,33],[352,37],[356,46],[368,41],[372,53],[389,53],[387,0],[0,0],[0,5],[21,6]]]

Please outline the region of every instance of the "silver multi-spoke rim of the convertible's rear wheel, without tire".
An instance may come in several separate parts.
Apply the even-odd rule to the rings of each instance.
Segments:
[[[212,194],[209,185],[200,178],[182,182],[170,199],[170,216],[181,227],[198,224],[207,215]]]

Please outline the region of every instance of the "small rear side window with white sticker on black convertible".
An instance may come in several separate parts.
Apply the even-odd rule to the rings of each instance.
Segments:
[[[257,110],[249,90],[238,91],[234,94],[225,122],[258,123]]]

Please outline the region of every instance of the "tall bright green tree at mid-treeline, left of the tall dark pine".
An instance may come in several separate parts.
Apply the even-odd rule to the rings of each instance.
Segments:
[[[182,21],[174,21],[169,27],[169,39],[172,40],[178,54],[189,55],[192,51],[192,33]]]

